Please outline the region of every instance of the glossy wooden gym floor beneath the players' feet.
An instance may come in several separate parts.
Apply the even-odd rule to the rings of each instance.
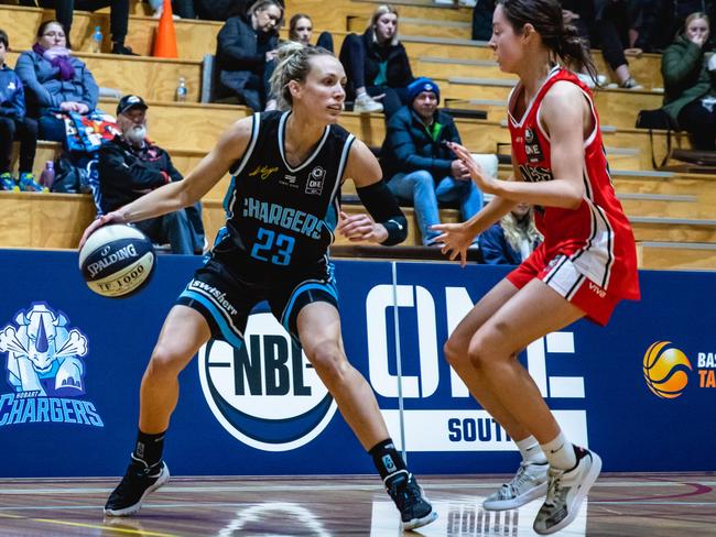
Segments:
[[[500,476],[421,480],[440,518],[408,535],[535,535],[541,502],[486,513]],[[104,518],[116,480],[0,480],[0,536],[369,536],[400,535],[398,512],[377,479],[173,478],[139,515]],[[606,474],[561,536],[716,535],[716,475]]]

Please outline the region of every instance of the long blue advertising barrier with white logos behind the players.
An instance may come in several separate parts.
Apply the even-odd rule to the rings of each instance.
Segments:
[[[0,251],[0,476],[123,472],[147,361],[200,262],[160,256],[144,289],[108,299],[87,288],[74,253]],[[513,442],[442,350],[508,271],[336,262],[346,352],[417,473],[514,470]],[[716,274],[640,280],[642,300],[620,304],[606,328],[578,321],[520,360],[567,437],[598,451],[606,471],[714,471]],[[261,306],[241,349],[210,341],[180,383],[165,449],[174,474],[375,472],[305,355]]]

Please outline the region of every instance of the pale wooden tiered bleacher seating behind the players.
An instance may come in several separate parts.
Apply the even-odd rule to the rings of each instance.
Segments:
[[[410,2],[410,0],[405,0]],[[1,3],[1,2],[0,2]],[[7,2],[6,2],[7,3]],[[289,0],[288,13],[303,11],[312,14],[314,29],[330,30],[337,46],[349,31],[362,32],[377,1],[338,0],[325,9],[323,0]],[[411,57],[415,75],[426,75],[441,85],[444,99],[473,101],[467,105],[487,112],[487,120],[457,119],[463,140],[475,152],[495,152],[498,143],[509,142],[505,127],[505,100],[514,79],[497,68],[491,51],[484,44],[470,42],[470,10],[434,6],[398,6],[401,34]],[[128,44],[147,54],[151,50],[156,20],[135,1],[132,4]],[[12,29],[14,51],[29,48],[40,21],[53,17],[52,11],[0,6],[0,28]],[[245,107],[202,105],[202,58],[216,48],[216,34],[221,24],[206,21],[177,21],[180,58],[158,59],[90,54],[89,36],[95,25],[109,33],[106,12],[77,12],[72,40],[78,56],[95,74],[98,84],[137,92],[151,107],[150,134],[166,147],[183,172],[188,173],[211,149],[224,128],[246,117]],[[285,30],[284,30],[285,34]],[[82,52],[85,51],[85,52]],[[9,57],[12,65],[17,52]],[[608,74],[601,55],[594,54],[599,72]],[[665,174],[651,166],[651,144],[646,131],[634,129],[640,109],[658,108],[662,95],[660,56],[642,55],[630,58],[634,77],[647,88],[642,91],[596,91],[596,101],[604,125],[604,139],[612,167],[612,177],[621,202],[634,227],[639,241],[640,265],[659,268],[716,268],[716,206],[714,182],[708,174]],[[187,79],[187,103],[173,102],[178,78]],[[655,91],[653,89],[657,89]],[[100,108],[112,112],[115,103],[102,101]],[[381,114],[345,113],[341,124],[369,145],[380,145],[384,136]],[[657,155],[666,153],[665,131],[654,132]],[[688,149],[685,136],[676,136],[677,147]],[[44,161],[58,151],[57,144],[42,142],[36,158],[37,172]],[[502,166],[500,174],[509,173]],[[225,177],[205,199],[205,221],[209,233],[224,221],[221,198],[228,186]],[[349,184],[350,185],[350,184]],[[0,193],[3,223],[0,246],[4,248],[74,248],[94,210],[88,196]],[[360,206],[347,206],[350,211]],[[412,218],[412,209],[408,209]],[[454,210],[444,210],[446,221],[455,221]],[[414,222],[413,222],[414,223]],[[415,226],[408,244],[419,244]],[[347,255],[375,255],[371,249],[345,245],[336,249]],[[425,257],[422,249],[402,251],[402,255]]]

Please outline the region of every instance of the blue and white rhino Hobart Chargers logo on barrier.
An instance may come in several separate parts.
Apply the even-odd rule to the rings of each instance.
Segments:
[[[87,338],[62,311],[35,303],[0,329],[0,352],[8,353],[12,393],[0,394],[0,427],[66,423],[104,427],[85,395]]]

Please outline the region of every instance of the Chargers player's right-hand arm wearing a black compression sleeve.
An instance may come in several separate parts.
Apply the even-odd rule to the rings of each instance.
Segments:
[[[336,231],[351,242],[399,244],[408,237],[408,220],[382,179],[382,171],[370,150],[359,140],[350,147],[345,177],[356,184],[358,197],[369,215],[340,213]]]

